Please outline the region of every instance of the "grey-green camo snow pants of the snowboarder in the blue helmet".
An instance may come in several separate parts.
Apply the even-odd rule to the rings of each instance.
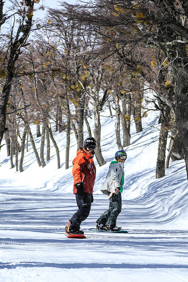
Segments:
[[[109,193],[110,194],[110,193]],[[121,193],[114,196],[114,199],[110,199],[109,208],[106,212],[103,212],[102,215],[97,219],[96,222],[103,225],[108,225],[110,227],[116,226],[117,217],[121,212],[122,208],[122,197]]]

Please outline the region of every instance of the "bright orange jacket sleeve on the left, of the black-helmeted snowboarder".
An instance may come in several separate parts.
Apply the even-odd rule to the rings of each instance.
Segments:
[[[83,171],[83,166],[84,166],[84,158],[82,156],[76,156],[75,162],[72,168],[72,175],[73,179],[76,183],[83,182],[85,174],[82,172]]]

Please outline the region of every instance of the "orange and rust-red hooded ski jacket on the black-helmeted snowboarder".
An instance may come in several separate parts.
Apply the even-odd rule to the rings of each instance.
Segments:
[[[76,157],[72,163],[74,194],[77,192],[75,184],[79,182],[82,182],[84,192],[92,194],[96,176],[96,167],[94,165],[93,155],[89,154],[89,152],[85,149],[80,148],[76,152]]]

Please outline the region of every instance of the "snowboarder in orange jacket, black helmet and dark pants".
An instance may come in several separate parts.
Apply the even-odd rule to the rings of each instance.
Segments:
[[[78,211],[71,217],[65,227],[66,235],[83,235],[84,233],[80,230],[80,225],[88,217],[91,203],[93,202],[93,186],[96,176],[96,167],[93,161],[95,148],[96,140],[93,137],[86,138],[84,148],[80,148],[77,151],[76,157],[72,162],[74,194],[76,195]]]

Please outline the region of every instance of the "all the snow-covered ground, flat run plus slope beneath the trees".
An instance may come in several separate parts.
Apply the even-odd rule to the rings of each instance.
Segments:
[[[0,152],[0,281],[188,281],[188,184],[184,160],[171,162],[165,177],[155,179],[159,113],[143,119],[143,132],[131,128],[125,148],[125,184],[117,224],[128,234],[92,232],[108,207],[100,187],[118,150],[115,118],[102,113],[102,154],[97,166],[94,202],[81,225],[86,239],[68,239],[64,228],[77,210],[72,194],[72,159],[76,140],[71,134],[70,168],[65,170],[65,133],[55,133],[55,149],[44,168],[38,167],[32,147],[25,153],[24,172],[10,169],[6,146]],[[106,116],[106,117],[104,117]],[[93,119],[90,121],[94,129]],[[33,133],[34,133],[33,128]],[[85,128],[85,138],[87,131]],[[40,138],[36,138],[39,151]]]

